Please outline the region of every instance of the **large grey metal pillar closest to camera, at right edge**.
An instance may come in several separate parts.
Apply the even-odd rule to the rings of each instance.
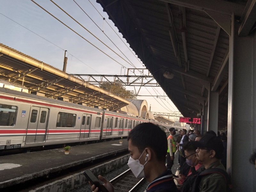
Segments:
[[[233,191],[254,191],[256,171],[249,163],[256,148],[256,34],[238,37],[238,23],[231,17],[228,71],[227,171]],[[246,173],[244,177],[243,174]]]

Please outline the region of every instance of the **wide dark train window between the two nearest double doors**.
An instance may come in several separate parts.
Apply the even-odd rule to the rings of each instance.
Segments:
[[[76,114],[59,112],[56,127],[75,127]]]

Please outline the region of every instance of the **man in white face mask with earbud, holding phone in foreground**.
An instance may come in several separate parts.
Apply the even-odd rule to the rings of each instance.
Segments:
[[[130,159],[128,166],[137,178],[145,177],[150,183],[147,192],[177,192],[172,171],[165,166],[167,140],[165,132],[152,123],[142,123],[135,126],[129,133],[128,150]],[[99,177],[109,192],[113,192],[111,183]],[[97,188],[92,186],[92,191]]]

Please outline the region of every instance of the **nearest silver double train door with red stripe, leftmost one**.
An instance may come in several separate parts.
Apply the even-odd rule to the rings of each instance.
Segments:
[[[26,143],[41,143],[45,141],[48,112],[48,108],[31,107]]]

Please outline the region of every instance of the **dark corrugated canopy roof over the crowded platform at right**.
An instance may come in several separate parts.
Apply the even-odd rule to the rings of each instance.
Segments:
[[[218,91],[218,127],[227,126],[231,15],[234,13],[240,23],[248,23],[246,19],[255,8],[254,3],[247,0],[97,2],[184,117],[201,115],[208,103],[209,90]],[[247,27],[251,29],[255,19],[250,22]]]

